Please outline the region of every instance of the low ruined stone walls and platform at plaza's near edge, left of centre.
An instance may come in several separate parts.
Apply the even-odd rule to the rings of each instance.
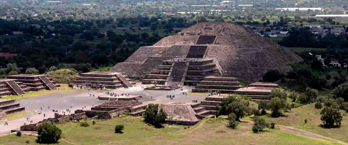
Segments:
[[[145,112],[146,108],[146,104],[137,101],[109,101],[92,107],[91,110],[76,110],[75,114],[85,112],[88,118],[110,119],[126,112],[132,116],[138,116]]]

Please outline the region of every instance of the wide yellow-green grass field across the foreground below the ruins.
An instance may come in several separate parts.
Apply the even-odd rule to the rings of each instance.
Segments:
[[[324,140],[307,138],[289,132],[267,129],[263,133],[252,133],[251,123],[241,123],[237,130],[226,127],[226,120],[207,119],[188,129],[179,125],[166,125],[153,128],[144,123],[143,118],[123,117],[110,120],[97,120],[96,125],[80,127],[79,123],[62,123],[58,125],[63,131],[58,144],[96,145],[96,144],[206,144],[206,145],[240,145],[240,144],[278,144],[278,145],[335,145]],[[114,126],[125,125],[122,134],[114,133]],[[36,137],[7,135],[0,137],[0,145],[21,145],[26,140],[35,143]]]

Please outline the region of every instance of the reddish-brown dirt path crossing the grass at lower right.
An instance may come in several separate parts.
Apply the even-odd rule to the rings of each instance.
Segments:
[[[311,137],[311,138],[316,138],[316,139],[324,139],[324,140],[327,140],[327,141],[330,141],[330,142],[335,142],[335,143],[339,143],[339,144],[343,144],[343,145],[348,145],[348,143],[345,143],[345,142],[342,142],[342,141],[339,141],[339,140],[335,140],[335,139],[332,139],[332,138],[327,138],[327,137],[324,137],[324,136],[321,136],[321,135],[317,135],[317,134],[313,134],[313,133],[308,133],[306,131],[295,129],[295,128],[292,128],[292,127],[286,127],[286,126],[281,126],[281,125],[277,125],[277,127],[279,127],[280,130],[290,131],[293,134],[298,134],[298,135]]]

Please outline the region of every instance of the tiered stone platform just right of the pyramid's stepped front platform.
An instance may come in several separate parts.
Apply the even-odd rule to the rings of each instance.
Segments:
[[[205,77],[200,81],[192,92],[220,92],[233,93],[236,89],[242,88],[237,78],[228,76]]]

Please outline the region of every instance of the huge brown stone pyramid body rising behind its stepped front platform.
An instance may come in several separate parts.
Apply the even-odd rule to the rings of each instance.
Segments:
[[[152,46],[140,47],[110,71],[144,78],[163,61],[174,58],[213,59],[220,75],[256,82],[272,69],[291,70],[287,64],[303,59],[267,37],[235,23],[198,23],[167,36]]]

